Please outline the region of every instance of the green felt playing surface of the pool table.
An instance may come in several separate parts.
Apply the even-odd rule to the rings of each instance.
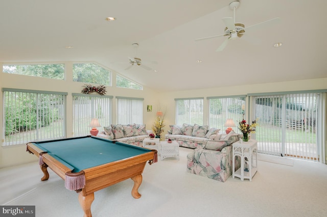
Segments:
[[[32,143],[48,152],[72,172],[121,160],[151,150],[96,137],[69,138]]]

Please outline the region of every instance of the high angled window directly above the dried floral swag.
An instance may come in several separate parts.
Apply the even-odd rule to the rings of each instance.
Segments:
[[[94,63],[73,64],[74,82],[111,86],[111,72]]]

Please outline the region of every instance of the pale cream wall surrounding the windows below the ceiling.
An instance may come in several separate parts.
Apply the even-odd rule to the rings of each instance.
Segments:
[[[0,64],[0,70],[2,70]],[[67,77],[65,80],[54,80],[46,78],[38,78],[23,75],[13,75],[7,73],[0,73],[0,87],[1,88],[17,88],[17,89],[29,89],[29,90],[48,90],[48,91],[61,91],[68,92],[67,104],[72,104],[72,93],[80,93],[84,83],[72,82],[72,63],[66,63]],[[114,74],[115,72],[113,72]],[[113,76],[114,78],[114,76]],[[115,80],[113,80],[115,84]],[[140,97],[144,98],[144,123],[147,129],[151,129],[151,125],[154,122],[155,113],[160,110],[166,110],[166,132],[170,124],[175,123],[175,98],[188,98],[188,97],[208,97],[208,96],[230,96],[230,95],[245,95],[248,93],[266,93],[266,92],[282,92],[282,91],[300,91],[300,90],[319,90],[327,89],[327,77],[320,79],[309,80],[294,80],[291,82],[281,83],[268,83],[258,85],[244,85],[233,87],[217,87],[211,89],[200,89],[188,91],[173,91],[173,92],[156,92],[152,89],[144,87],[143,91],[130,90],[125,88],[107,87],[107,95],[112,96],[127,96],[127,97]],[[3,100],[0,96],[0,122],[3,123]],[[147,106],[152,105],[152,112],[147,112]],[[205,104],[204,106],[207,106]],[[113,104],[115,109],[115,104]],[[114,113],[115,111],[113,111]],[[72,136],[73,121],[72,121],[72,107],[67,108],[67,137]],[[204,107],[204,117],[207,117],[207,109]],[[112,117],[115,120],[115,116]],[[204,120],[204,124],[207,120]],[[0,135],[2,140],[3,126],[0,125]],[[165,132],[165,134],[166,134]],[[22,164],[25,162],[37,160],[32,154],[26,152],[26,145],[17,145],[13,147],[0,147],[0,168]]]

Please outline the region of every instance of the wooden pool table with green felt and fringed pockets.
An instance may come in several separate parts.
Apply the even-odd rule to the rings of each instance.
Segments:
[[[146,162],[157,161],[155,149],[92,136],[31,142],[27,151],[39,157],[42,181],[49,179],[50,167],[65,180],[67,189],[79,193],[84,216],[92,216],[94,192],[128,178],[134,181],[132,196],[140,198]]]

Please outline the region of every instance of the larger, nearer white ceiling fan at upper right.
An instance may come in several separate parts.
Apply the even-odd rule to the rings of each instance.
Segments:
[[[216,51],[222,51],[228,44],[229,40],[232,39],[237,39],[237,38],[241,38],[243,36],[243,34],[245,33],[245,30],[248,29],[252,29],[252,28],[258,28],[258,27],[262,27],[265,25],[270,25],[270,24],[275,24],[278,23],[281,19],[279,17],[270,19],[270,20],[266,20],[264,22],[260,22],[254,25],[250,25],[248,27],[245,27],[245,25],[243,23],[236,23],[235,22],[235,10],[239,7],[240,5],[240,1],[234,1],[231,2],[229,4],[229,8],[231,10],[233,10],[234,12],[234,17],[224,17],[222,18],[223,22],[226,25],[226,28],[224,30],[224,34],[221,35],[215,35],[215,36],[209,36],[209,37],[205,37],[205,38],[198,38],[195,39],[196,41],[200,41],[200,40],[205,40],[205,39],[211,39],[211,38],[216,38],[216,37],[220,37],[220,36],[228,36],[228,38],[226,38],[223,43],[217,48]]]

